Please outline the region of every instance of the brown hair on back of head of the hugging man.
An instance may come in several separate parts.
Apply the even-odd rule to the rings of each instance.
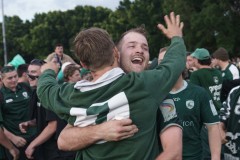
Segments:
[[[89,70],[99,70],[114,62],[113,43],[107,31],[90,28],[81,31],[74,40],[75,53]]]

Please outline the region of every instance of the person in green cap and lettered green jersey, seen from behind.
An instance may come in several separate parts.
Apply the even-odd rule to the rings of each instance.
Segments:
[[[194,67],[196,71],[192,72],[190,76],[190,83],[196,84],[206,89],[212,98],[213,106],[216,107],[217,112],[221,108],[221,89],[222,89],[222,75],[218,69],[211,67],[211,57],[207,49],[197,48],[191,56],[194,60]],[[202,145],[203,145],[203,159],[211,159],[209,149],[208,131],[205,126],[202,127]],[[222,136],[222,135],[221,135]]]

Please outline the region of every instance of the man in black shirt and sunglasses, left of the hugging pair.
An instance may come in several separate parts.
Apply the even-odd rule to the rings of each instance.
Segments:
[[[71,160],[74,158],[68,155],[67,152],[60,151],[57,147],[58,129],[61,120],[51,111],[46,110],[41,105],[37,95],[36,87],[38,77],[41,74],[41,66],[45,62],[43,60],[34,59],[28,67],[28,77],[31,87],[34,89],[32,96],[32,120],[19,124],[22,133],[27,133],[30,127],[37,127],[36,138],[28,145],[25,154],[29,159],[37,160]]]

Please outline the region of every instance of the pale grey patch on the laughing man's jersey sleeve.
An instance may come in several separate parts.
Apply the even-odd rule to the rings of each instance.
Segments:
[[[159,108],[162,112],[164,122],[177,117],[176,107],[172,99],[165,99]]]

